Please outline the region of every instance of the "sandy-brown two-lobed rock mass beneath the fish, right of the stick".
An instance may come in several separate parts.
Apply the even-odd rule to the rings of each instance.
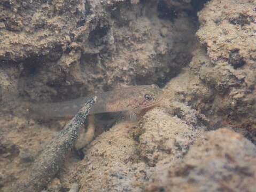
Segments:
[[[154,109],[139,126],[121,123],[99,135],[60,180],[79,181],[81,191],[143,191],[152,172],[178,162],[202,131]]]

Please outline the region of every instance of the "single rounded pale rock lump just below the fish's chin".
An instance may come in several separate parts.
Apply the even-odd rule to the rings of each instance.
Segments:
[[[158,162],[166,162],[170,157],[174,162],[182,158],[203,131],[157,109],[145,115],[140,127],[142,134],[139,135],[139,154],[148,166],[157,166]]]

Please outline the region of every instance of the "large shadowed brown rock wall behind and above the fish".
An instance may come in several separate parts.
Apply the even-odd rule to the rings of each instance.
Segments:
[[[19,94],[36,101],[166,81],[189,62],[195,23],[185,11],[159,18],[164,5],[4,1],[2,65],[18,66]]]

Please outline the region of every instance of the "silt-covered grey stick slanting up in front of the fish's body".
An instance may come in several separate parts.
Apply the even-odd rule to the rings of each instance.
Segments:
[[[46,146],[29,174],[25,176],[27,179],[19,183],[15,191],[40,191],[52,180],[73,148],[78,130],[86,121],[89,110],[96,99],[97,97],[93,97],[88,100],[57,137]]]

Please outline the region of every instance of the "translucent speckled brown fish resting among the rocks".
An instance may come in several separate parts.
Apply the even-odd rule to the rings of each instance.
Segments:
[[[162,99],[162,91],[157,85],[137,85],[96,94],[97,102],[89,114],[134,111],[138,113],[152,108]],[[33,110],[46,117],[71,117],[90,98],[82,97],[64,102],[35,105]]]

